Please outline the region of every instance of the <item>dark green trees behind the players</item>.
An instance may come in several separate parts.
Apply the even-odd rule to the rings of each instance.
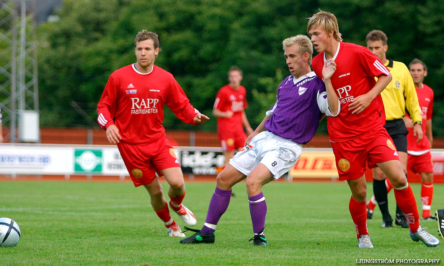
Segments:
[[[417,57],[428,64],[425,83],[435,90],[433,131],[444,136],[442,0],[64,0],[61,19],[38,27],[40,123],[97,126],[92,121],[108,76],[135,62],[134,37],[147,29],[159,34],[162,52],[155,64],[170,71],[206,115],[227,83],[228,68],[240,67],[248,91],[246,114],[255,127],[274,103],[278,78],[289,75],[282,40],[306,34],[306,18],[318,8],[337,16],[346,42],[365,45],[365,35],[380,29],[389,37],[389,57],[405,64]],[[197,129],[168,111],[164,125]],[[215,126],[211,119],[198,128]]]

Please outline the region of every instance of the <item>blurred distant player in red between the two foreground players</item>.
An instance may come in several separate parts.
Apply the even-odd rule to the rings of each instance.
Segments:
[[[225,155],[225,165],[234,156],[235,150],[244,147],[247,135],[253,133],[244,109],[247,107],[246,89],[241,85],[242,70],[230,67],[229,84],[219,89],[213,107],[213,115],[218,121],[218,135]],[[247,132],[247,135],[244,131]],[[218,168],[222,171],[223,167]]]

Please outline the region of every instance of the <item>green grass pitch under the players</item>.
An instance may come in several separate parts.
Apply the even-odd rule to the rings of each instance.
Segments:
[[[215,184],[186,186],[184,204],[200,229]],[[412,188],[418,202],[420,186]],[[359,259],[444,258],[443,243],[427,248],[413,242],[408,229],[381,228],[379,210],[368,222],[375,248],[358,248],[348,210],[350,192],[343,182],[266,185],[266,247],[248,242],[253,232],[245,183],[233,189],[236,197],[218,224],[216,242],[205,245],[183,245],[168,237],[148,193],[132,183],[1,181],[0,191],[0,217],[14,219],[22,233],[16,247],[0,248],[1,266],[342,266]],[[389,202],[393,215],[393,193]],[[432,210],[438,208],[444,208],[444,184],[435,184]],[[421,224],[438,236],[436,221]]]

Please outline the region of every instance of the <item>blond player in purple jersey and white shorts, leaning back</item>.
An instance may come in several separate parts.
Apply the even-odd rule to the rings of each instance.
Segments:
[[[267,205],[262,186],[293,167],[301,156],[302,144],[313,138],[322,113],[339,114],[339,99],[330,82],[336,64],[329,61],[327,66],[325,62],[324,85],[311,71],[313,45],[307,36],[290,37],[282,46],[291,75],[279,85],[274,107],[248,136],[246,146],[218,174],[203,228],[189,229],[196,234],[180,240],[181,243],[214,243],[217,223],[230,203],[231,187],[246,179],[254,231],[250,241],[256,246],[268,245],[264,235]]]

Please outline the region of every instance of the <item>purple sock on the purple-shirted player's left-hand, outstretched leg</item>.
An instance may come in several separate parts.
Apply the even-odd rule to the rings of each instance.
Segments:
[[[218,187],[214,190],[213,197],[210,200],[210,206],[208,207],[208,213],[206,214],[205,223],[217,225],[222,214],[225,213],[230,204],[231,190],[222,190]],[[203,234],[212,234],[215,229],[208,226],[203,226],[200,230]]]

